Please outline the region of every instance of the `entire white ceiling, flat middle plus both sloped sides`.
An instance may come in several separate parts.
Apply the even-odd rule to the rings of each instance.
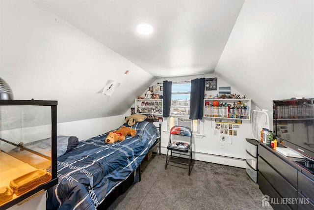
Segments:
[[[213,71],[271,110],[314,97],[313,10],[313,0],[0,0],[0,77],[15,99],[58,100],[58,122],[121,115],[156,77]],[[141,21],[152,36],[134,33]],[[109,80],[121,83],[111,97],[99,93]]]

